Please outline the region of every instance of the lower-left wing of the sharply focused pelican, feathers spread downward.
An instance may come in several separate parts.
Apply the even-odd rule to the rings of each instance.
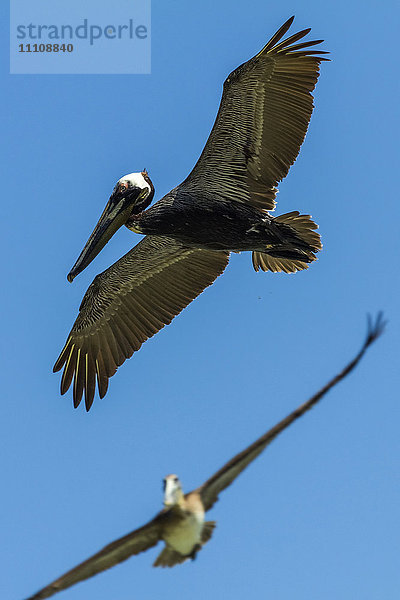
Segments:
[[[182,246],[164,236],[148,236],[98,275],[58,357],[64,367],[61,393],[74,379],[74,406],[83,392],[86,409],[117,367],[181,312],[228,264],[229,253]]]

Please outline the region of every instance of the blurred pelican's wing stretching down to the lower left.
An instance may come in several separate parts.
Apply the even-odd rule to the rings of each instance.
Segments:
[[[101,573],[123,562],[130,556],[139,554],[155,546],[161,539],[160,535],[164,514],[163,512],[159,513],[147,525],[105,546],[100,552],[97,552],[97,554],[94,554],[74,569],[71,569],[27,600],[50,598],[53,594],[65,590],[79,581],[93,577],[93,575],[97,575],[97,573]]]

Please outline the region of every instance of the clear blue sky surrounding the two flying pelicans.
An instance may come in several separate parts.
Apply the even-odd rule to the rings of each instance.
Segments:
[[[292,14],[332,53],[277,208],[314,216],[318,262],[256,274],[233,256],[89,414],[73,410],[52,365],[92,278],[138,241],[120,230],[67,283],[115,181],[146,167],[157,198],[182,181],[224,78]],[[398,16],[395,2],[153,2],[151,75],[10,76],[4,12],[2,598],[146,522],[167,473],[201,483],[340,369],[379,309],[385,336],[223,494],[196,562],[152,569],[152,549],[59,597],[398,594]]]

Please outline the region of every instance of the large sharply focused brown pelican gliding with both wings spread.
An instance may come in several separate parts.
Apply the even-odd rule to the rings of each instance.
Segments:
[[[322,40],[282,40],[290,18],[224,83],[221,105],[189,176],[151,208],[146,171],[116,184],[81,255],[72,281],[122,225],[146,237],[87,290],[54,365],[64,368],[61,393],[73,380],[74,406],[89,410],[108,379],[220,275],[230,252],[252,251],[256,271],[306,269],[321,249],[317,225],[292,211],[273,217],[276,185],[287,175],[313,110]]]

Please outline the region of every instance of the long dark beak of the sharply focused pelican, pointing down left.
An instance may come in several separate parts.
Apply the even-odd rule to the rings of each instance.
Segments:
[[[104,248],[114,233],[124,225],[146,190],[129,188],[124,193],[114,191],[78,260],[67,275],[72,282]]]

